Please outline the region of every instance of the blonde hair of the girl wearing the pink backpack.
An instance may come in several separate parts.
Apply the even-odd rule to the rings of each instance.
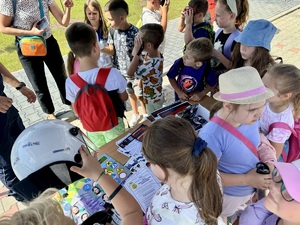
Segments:
[[[294,114],[300,115],[300,70],[291,64],[277,64],[267,73],[272,77],[279,94],[291,93],[290,101],[294,106]]]

